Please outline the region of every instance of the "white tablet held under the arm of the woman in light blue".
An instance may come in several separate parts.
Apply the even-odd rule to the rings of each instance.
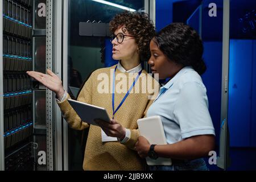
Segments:
[[[167,144],[166,135],[164,134],[163,124],[160,116],[138,119],[139,133],[145,137],[150,144]],[[158,158],[156,160],[146,158],[148,166],[163,165],[171,166],[171,159]]]

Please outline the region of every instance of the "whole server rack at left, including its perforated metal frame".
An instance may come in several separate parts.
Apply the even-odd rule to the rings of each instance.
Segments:
[[[51,68],[50,5],[47,0],[0,3],[0,170],[53,169],[51,92],[26,73]]]

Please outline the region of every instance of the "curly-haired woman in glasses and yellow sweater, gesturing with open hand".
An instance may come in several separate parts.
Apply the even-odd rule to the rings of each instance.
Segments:
[[[69,126],[76,130],[89,127],[84,170],[142,170],[144,162],[134,150],[139,137],[137,120],[144,117],[152,103],[148,98],[154,93],[143,93],[142,90],[145,88],[139,80],[147,76],[147,72],[142,69],[141,61],[147,61],[150,57],[149,43],[155,35],[155,30],[146,14],[126,11],[114,17],[110,22],[110,31],[113,33],[113,59],[119,60],[119,63],[110,68],[94,71],[82,87],[77,100],[104,107],[109,117],[113,118],[111,123],[97,121],[100,126],[98,127],[89,126],[86,121],[81,121],[68,102],[70,97],[65,92],[60,78],[51,71],[47,71],[48,75],[38,72],[27,73],[56,93],[57,104]],[[99,92],[101,76],[106,75],[109,78],[104,82],[107,88],[115,88],[122,76],[129,78],[129,75],[135,75],[136,79],[132,85],[126,81],[125,92],[113,89],[113,93],[102,93]],[[154,78],[147,76],[148,78],[150,80],[147,81],[152,81],[158,86]],[[139,93],[129,91],[130,88],[135,89],[137,86]]]

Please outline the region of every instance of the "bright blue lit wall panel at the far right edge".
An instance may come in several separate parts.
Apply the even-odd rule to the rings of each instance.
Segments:
[[[229,108],[230,146],[250,146],[252,40],[230,40]]]

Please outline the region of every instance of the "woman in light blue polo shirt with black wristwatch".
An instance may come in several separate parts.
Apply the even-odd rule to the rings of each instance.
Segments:
[[[203,157],[214,150],[215,133],[200,77],[206,71],[201,39],[186,24],[171,23],[151,40],[150,51],[152,72],[158,73],[159,79],[171,78],[146,114],[160,116],[167,144],[150,144],[139,137],[138,154],[172,159],[172,166],[150,166],[151,170],[208,170]]]

